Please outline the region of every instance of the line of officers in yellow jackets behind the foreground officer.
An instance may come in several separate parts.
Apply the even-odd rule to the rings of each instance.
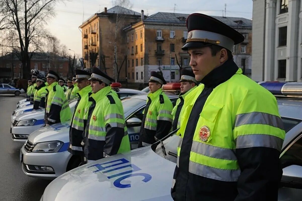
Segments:
[[[27,99],[34,105],[34,110],[45,108],[46,125],[71,120],[68,151],[80,156],[81,164],[130,151],[123,106],[110,86],[113,81],[95,67],[92,73],[76,70],[76,75],[67,79],[68,88],[65,81],[52,70],[46,78],[34,73],[28,80]],[[161,74],[151,72],[139,147],[153,144],[171,129],[179,128],[178,117],[184,98],[197,84],[190,70],[182,71],[180,82],[181,94],[173,108],[172,102],[162,91],[165,79]],[[71,114],[68,100],[75,97],[78,97],[78,101]]]

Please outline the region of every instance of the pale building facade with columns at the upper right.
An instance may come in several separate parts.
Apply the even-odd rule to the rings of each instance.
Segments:
[[[252,23],[252,79],[301,82],[301,0],[253,0]]]

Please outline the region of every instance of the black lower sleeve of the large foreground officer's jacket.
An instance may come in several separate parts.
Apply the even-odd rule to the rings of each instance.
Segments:
[[[240,148],[236,156],[241,174],[235,201],[277,201],[282,177],[280,152],[266,147]]]

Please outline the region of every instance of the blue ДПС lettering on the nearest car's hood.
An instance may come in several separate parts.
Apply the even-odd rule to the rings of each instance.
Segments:
[[[117,163],[117,162],[119,162],[119,163]],[[124,166],[120,166],[120,167],[115,167],[115,168],[112,168],[112,169],[109,169],[109,170],[106,170],[106,169],[108,169],[110,167],[114,167],[114,166],[118,166],[118,165],[122,165],[122,164],[125,164],[125,165]],[[106,162],[106,163],[95,164],[95,165],[92,165],[92,166],[89,166],[89,167],[96,167],[97,170],[94,170],[93,173],[101,171],[103,174],[105,174],[107,176],[108,179],[118,177],[113,182],[113,185],[115,187],[117,187],[117,188],[130,188],[131,184],[121,184],[120,183],[122,180],[127,179],[129,177],[136,177],[136,176],[144,177],[144,179],[142,180],[143,182],[148,182],[148,181],[150,181],[152,179],[152,176],[149,175],[149,174],[147,174],[147,173],[133,173],[133,172],[137,172],[137,171],[139,171],[141,169],[139,167],[137,167],[136,165],[131,164],[125,158],[109,161],[109,162]],[[132,170],[128,170],[128,171],[124,171],[124,172],[117,173],[117,174],[112,174],[112,175],[110,174],[112,171],[121,170],[121,169],[127,168],[127,167],[131,167]],[[129,174],[129,175],[125,175],[125,174]]]

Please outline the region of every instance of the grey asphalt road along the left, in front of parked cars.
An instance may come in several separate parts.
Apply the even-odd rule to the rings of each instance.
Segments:
[[[0,95],[0,200],[39,201],[44,189],[51,182],[27,177],[20,163],[23,144],[12,141],[11,114],[23,96]]]

